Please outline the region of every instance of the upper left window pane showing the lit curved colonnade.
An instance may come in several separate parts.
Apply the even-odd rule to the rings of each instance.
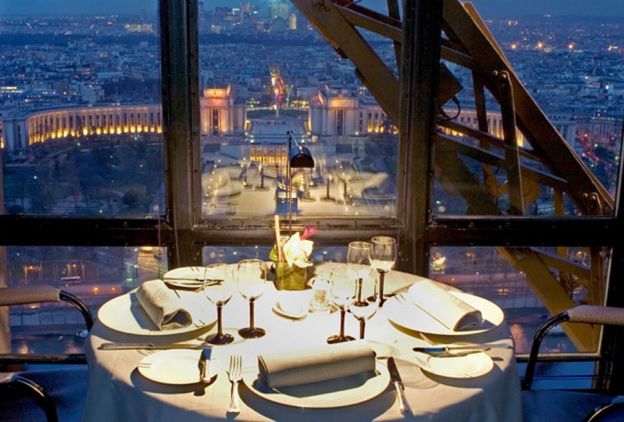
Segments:
[[[5,213],[163,213],[157,11],[0,6]]]

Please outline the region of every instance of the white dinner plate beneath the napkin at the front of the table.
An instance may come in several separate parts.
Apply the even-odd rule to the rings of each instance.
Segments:
[[[371,400],[386,389],[390,375],[385,365],[377,362],[374,374],[362,373],[313,384],[269,389],[257,375],[244,376],[243,382],[254,394],[274,403],[322,409],[351,406]]]

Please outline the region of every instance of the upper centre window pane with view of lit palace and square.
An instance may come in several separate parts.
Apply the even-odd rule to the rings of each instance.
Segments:
[[[293,5],[205,3],[200,62],[205,218],[396,215],[396,128]],[[291,177],[287,132],[314,160]]]

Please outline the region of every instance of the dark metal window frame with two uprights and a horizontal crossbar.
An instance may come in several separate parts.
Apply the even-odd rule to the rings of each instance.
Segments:
[[[199,131],[197,0],[160,0],[161,84],[165,140],[166,214],[153,218],[81,218],[0,215],[0,245],[160,246],[170,267],[202,263],[204,245],[242,242],[271,244],[270,219],[202,219]],[[433,98],[440,60],[442,2],[407,1],[403,10],[400,152],[396,218],[297,217],[293,228],[313,224],[322,243],[347,243],[373,234],[398,236],[398,268],[428,275],[431,246],[606,246],[612,248],[607,304],[624,306],[617,277],[624,274],[624,227],[620,166],[613,217],[447,217],[429,206],[432,178]],[[436,32],[437,31],[437,32]],[[418,54],[417,54],[418,52]],[[426,101],[417,101],[425,98]],[[405,122],[416,122],[406,124]],[[186,169],[186,170],[185,170]],[[0,172],[0,183],[2,173]],[[0,198],[0,203],[1,203]],[[544,237],[544,230],[549,230]],[[413,259],[410,259],[413,257]],[[606,330],[602,343],[603,379],[624,385],[624,336]],[[619,362],[619,363],[618,363]],[[609,384],[613,386],[613,384]]]

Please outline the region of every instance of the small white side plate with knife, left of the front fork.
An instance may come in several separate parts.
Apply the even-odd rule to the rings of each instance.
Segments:
[[[197,365],[201,350],[161,350],[145,356],[137,369],[145,378],[171,385],[186,385],[199,382]],[[207,378],[214,377],[212,365],[208,363]]]

